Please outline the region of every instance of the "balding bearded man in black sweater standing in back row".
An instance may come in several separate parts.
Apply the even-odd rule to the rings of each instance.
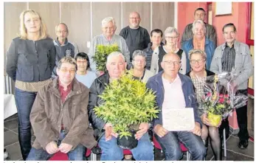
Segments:
[[[151,39],[148,30],[139,26],[141,21],[139,13],[132,12],[129,14],[129,25],[123,28],[119,35],[125,38],[125,42],[130,51],[130,61],[132,61],[135,50],[143,50],[148,47]]]

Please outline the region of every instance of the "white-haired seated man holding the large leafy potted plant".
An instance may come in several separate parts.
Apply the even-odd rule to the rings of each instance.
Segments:
[[[108,55],[106,68],[108,72],[97,77],[92,83],[90,88],[90,97],[89,97],[89,120],[98,130],[105,130],[105,133],[100,137],[99,145],[103,150],[100,160],[122,160],[123,150],[117,145],[117,133],[114,133],[111,124],[105,123],[103,119],[96,117],[94,114],[94,107],[100,105],[102,100],[98,95],[102,94],[106,84],[110,83],[113,80],[117,80],[121,74],[125,71],[125,57],[120,52],[111,52]],[[138,145],[136,148],[131,150],[133,153],[134,159],[136,161],[153,161],[153,145],[148,136],[148,123],[142,123],[139,125],[139,131],[136,132],[135,138],[138,139]]]

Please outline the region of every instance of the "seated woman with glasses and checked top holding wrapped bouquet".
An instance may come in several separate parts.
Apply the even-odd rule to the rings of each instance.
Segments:
[[[198,101],[198,115],[201,117],[201,121],[204,123],[201,129],[201,139],[206,142],[208,135],[210,136],[210,143],[215,160],[221,160],[221,139],[218,134],[218,126],[221,125],[221,122],[218,124],[218,126],[211,125],[209,119],[207,118],[207,113],[205,113],[201,103],[201,97],[204,95],[204,84],[201,83],[201,80],[205,81],[207,76],[214,75],[214,72],[210,72],[209,70],[205,69],[207,55],[204,51],[200,49],[190,50],[189,59],[192,70],[187,72],[187,76],[189,76],[193,82]]]

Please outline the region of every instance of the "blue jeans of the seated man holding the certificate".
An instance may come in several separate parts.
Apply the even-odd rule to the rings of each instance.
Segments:
[[[165,136],[160,138],[156,136],[157,141],[165,152],[166,161],[177,161],[182,158],[179,142],[191,153],[191,160],[204,160],[206,148],[200,136],[188,131],[169,131]]]

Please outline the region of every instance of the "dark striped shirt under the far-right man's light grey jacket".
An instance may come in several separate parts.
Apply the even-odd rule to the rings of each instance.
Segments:
[[[235,48],[234,44],[232,47],[229,47],[225,44],[223,58],[221,59],[222,63],[222,71],[223,72],[231,72],[232,68],[235,68]]]

